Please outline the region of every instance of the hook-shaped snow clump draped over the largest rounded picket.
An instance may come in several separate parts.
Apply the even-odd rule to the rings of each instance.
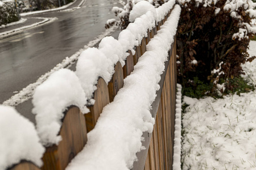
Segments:
[[[36,114],[36,129],[44,146],[58,144],[61,119],[64,111],[76,105],[82,113],[87,113],[86,97],[76,74],[68,69],[60,69],[36,87],[32,113]]]

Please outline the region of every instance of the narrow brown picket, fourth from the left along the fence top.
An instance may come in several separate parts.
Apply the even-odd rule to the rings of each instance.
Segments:
[[[123,87],[123,69],[120,62],[117,62],[115,65],[115,73],[112,76],[112,79],[110,80],[108,84],[109,89],[109,101],[114,101],[115,95],[117,95],[117,92],[120,88]]]

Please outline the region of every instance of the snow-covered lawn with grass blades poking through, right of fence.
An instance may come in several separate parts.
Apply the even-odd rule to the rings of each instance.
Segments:
[[[256,41],[249,54],[256,55]],[[256,61],[242,65],[256,84]],[[183,115],[182,169],[256,169],[256,92],[192,99]],[[255,133],[255,134],[254,134]]]

